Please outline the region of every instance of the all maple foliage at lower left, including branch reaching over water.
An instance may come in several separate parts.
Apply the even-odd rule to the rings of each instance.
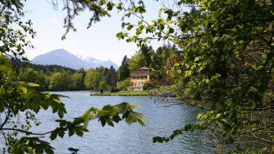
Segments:
[[[0,111],[6,112],[8,114],[6,114],[5,120],[1,123],[0,131],[21,132],[27,136],[41,136],[51,134],[50,138],[51,140],[54,140],[56,139],[57,135],[63,138],[65,132],[67,132],[69,136],[74,134],[82,136],[83,132],[88,131],[87,127],[89,121],[95,118],[101,122],[102,126],[105,126],[106,123],[109,126],[114,126],[113,122],[118,123],[123,119],[125,119],[129,125],[138,122],[141,126],[145,126],[143,123],[143,120],[145,119],[144,115],[133,111],[134,108],[138,108],[139,106],[130,105],[129,103],[106,105],[104,108],[102,108],[102,110],[98,108],[90,108],[81,117],[75,118],[72,122],[63,120],[62,118],[67,112],[65,110],[65,105],[61,103],[60,98],[67,96],[39,92],[37,90],[39,85],[35,83],[15,82],[8,80],[6,75],[7,72],[11,69],[8,61],[8,58],[1,56],[0,98],[3,101],[1,101]],[[17,126],[12,128],[8,127],[8,123],[10,123],[10,120],[12,120],[10,117],[19,118],[20,112],[33,111],[38,113],[41,109],[48,110],[49,107],[52,109],[53,113],[57,113],[58,117],[61,118],[56,120],[60,127],[56,128],[55,130],[36,133],[30,131],[31,126],[22,128],[17,128]],[[30,116],[27,116],[26,119],[27,121],[35,120],[34,114],[30,114]],[[52,153],[52,150],[53,148],[49,145],[48,142],[43,142],[38,137],[22,137],[18,140],[18,142],[15,142],[13,146],[10,146],[8,151],[11,153],[22,153],[23,151],[26,153],[33,153],[33,151],[35,151],[35,153],[42,153],[43,151],[45,151],[45,153]]]

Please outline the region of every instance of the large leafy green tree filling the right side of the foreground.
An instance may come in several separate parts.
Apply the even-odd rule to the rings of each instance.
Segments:
[[[170,137],[154,137],[154,142],[202,130],[220,151],[223,144],[252,135],[263,145],[261,152],[273,153],[273,1],[182,0],[175,4],[177,8],[160,8],[159,19],[145,22],[145,6],[139,3],[125,13],[140,17],[136,35],[117,34],[138,46],[158,39],[184,51],[170,76],[179,81],[177,94],[204,113],[198,115],[197,123],[175,130]],[[185,6],[190,10],[184,11]],[[136,25],[124,23],[127,30]],[[153,37],[140,37],[142,33]]]

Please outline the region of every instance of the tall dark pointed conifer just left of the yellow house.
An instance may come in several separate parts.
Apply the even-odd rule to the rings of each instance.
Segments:
[[[122,59],[122,65],[118,69],[118,80],[124,80],[126,78],[129,78],[129,76],[129,58],[127,58],[127,55],[124,55],[124,58]]]

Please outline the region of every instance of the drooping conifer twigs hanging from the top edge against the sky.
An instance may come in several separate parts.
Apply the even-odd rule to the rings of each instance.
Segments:
[[[61,6],[60,3],[58,3],[58,0],[51,0],[50,3],[56,10],[58,10],[58,8]],[[111,17],[109,12],[113,10],[113,8],[117,9],[118,11],[124,10],[124,4],[128,4],[129,9],[127,10],[131,10],[132,12],[145,12],[145,6],[142,0],[139,0],[138,3],[135,3],[134,1],[118,1],[118,3],[114,3],[113,1],[109,0],[64,0],[62,10],[66,12],[66,16],[64,18],[63,26],[65,28],[65,34],[62,36],[62,40],[65,39],[67,33],[70,31],[76,31],[73,21],[76,16],[81,14],[81,12],[88,10],[91,13],[87,26],[87,28],[90,28],[92,23],[100,22],[102,17]],[[131,14],[132,13],[127,13],[125,16],[130,17]],[[128,28],[130,27],[132,28],[133,26],[130,25]]]

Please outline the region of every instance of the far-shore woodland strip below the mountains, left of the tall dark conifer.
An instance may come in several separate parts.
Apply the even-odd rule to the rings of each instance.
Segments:
[[[15,74],[15,71],[10,71],[11,79],[38,83],[42,90],[85,90],[90,89],[90,86],[91,89],[110,90],[117,86],[118,72],[112,66],[110,69],[99,67],[96,70],[79,69],[76,71],[58,65],[26,65],[25,62],[22,64],[24,64],[24,71],[21,69],[16,73],[17,76],[11,76]]]

